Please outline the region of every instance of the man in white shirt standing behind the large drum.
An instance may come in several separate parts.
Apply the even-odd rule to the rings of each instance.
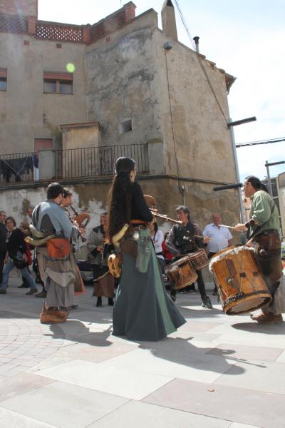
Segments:
[[[222,217],[216,213],[212,215],[213,223],[207,225],[203,230],[203,235],[211,238],[207,245],[208,258],[212,258],[213,255],[224,250],[224,248],[232,245],[232,234],[228,228],[219,226],[222,224]],[[217,286],[214,286],[213,295],[217,295]]]

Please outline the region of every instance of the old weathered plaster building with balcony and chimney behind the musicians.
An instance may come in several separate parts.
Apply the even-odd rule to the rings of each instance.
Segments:
[[[128,155],[160,212],[185,202],[201,226],[213,211],[235,223],[237,193],[212,191],[235,181],[234,78],[177,40],[172,1],[162,30],[132,1],[93,25],[37,11],[37,0],[0,1],[0,209],[21,218],[58,180],[96,222],[115,158]]]

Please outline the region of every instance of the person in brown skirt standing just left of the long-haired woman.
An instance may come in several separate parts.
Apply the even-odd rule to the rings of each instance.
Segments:
[[[93,267],[94,291],[97,297],[96,306],[102,307],[102,297],[108,297],[108,305],[113,306],[115,280],[108,268],[108,258],[113,245],[107,243],[107,215],[100,215],[100,225],[93,228],[88,235],[87,248],[90,263]]]

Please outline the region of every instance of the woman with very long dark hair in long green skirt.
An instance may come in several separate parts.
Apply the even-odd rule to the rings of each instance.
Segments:
[[[124,225],[129,227],[119,241],[123,270],[113,310],[113,335],[157,341],[174,332],[185,319],[165,292],[148,227],[152,213],[135,174],[133,159],[118,158],[109,195],[110,242]]]

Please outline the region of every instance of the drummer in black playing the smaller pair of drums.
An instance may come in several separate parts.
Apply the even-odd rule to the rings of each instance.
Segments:
[[[175,260],[178,260],[185,255],[195,253],[199,248],[204,248],[209,242],[209,238],[195,238],[195,235],[201,236],[199,226],[190,219],[190,210],[185,205],[180,205],[176,208],[177,219],[182,221],[182,225],[173,225],[165,244],[170,250],[170,253],[175,255]],[[212,309],[212,303],[206,294],[204,280],[201,270],[197,270],[197,284],[199,293],[202,298],[202,307]],[[176,300],[176,290],[172,287],[170,295],[173,301]]]

